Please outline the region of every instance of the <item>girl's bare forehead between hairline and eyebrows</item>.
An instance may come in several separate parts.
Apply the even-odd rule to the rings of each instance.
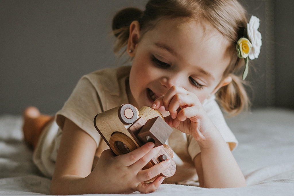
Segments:
[[[231,43],[206,21],[165,19],[144,36],[153,46],[169,48],[173,56],[189,65],[212,71],[218,65],[224,71],[231,60]]]

